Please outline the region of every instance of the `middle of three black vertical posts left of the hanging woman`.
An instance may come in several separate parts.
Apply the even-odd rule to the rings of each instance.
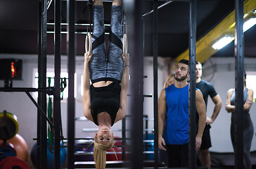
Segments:
[[[54,1],[54,87],[53,119],[54,119],[54,168],[60,168],[60,56],[61,56],[61,1]]]

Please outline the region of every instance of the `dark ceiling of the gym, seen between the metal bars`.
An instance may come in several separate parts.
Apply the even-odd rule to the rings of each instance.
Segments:
[[[153,1],[145,2],[145,12],[151,11]],[[160,1],[159,5],[165,3]],[[63,22],[66,22],[66,4],[62,1]],[[105,23],[110,23],[110,2],[104,2]],[[198,0],[197,1],[197,39],[212,30],[226,15],[234,9],[234,0]],[[38,1],[37,0],[1,0],[0,1],[0,53],[1,54],[37,54],[38,37]],[[77,1],[77,23],[88,23],[87,1]],[[176,58],[188,49],[188,2],[174,1],[159,9],[158,54]],[[48,22],[53,23],[53,3],[48,10]],[[129,16],[127,16],[129,17]],[[145,55],[152,56],[153,15],[145,20]],[[141,20],[142,22],[142,20]],[[129,25],[129,23],[128,23]],[[62,27],[65,31],[65,26]],[[53,30],[53,26],[48,26]],[[87,27],[77,27],[77,32],[86,32]],[[77,54],[84,54],[85,35],[77,34]],[[245,56],[256,56],[256,26],[245,32]],[[54,36],[48,34],[47,51],[53,54]],[[66,54],[66,34],[62,35],[62,54]],[[129,38],[129,32],[128,32]],[[214,56],[233,56],[233,43],[227,45]]]

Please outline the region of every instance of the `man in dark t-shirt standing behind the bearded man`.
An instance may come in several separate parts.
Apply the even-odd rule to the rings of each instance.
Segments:
[[[219,114],[220,108],[222,108],[222,99],[220,98],[219,94],[217,94],[212,84],[204,80],[201,80],[201,76],[202,76],[202,65],[201,63],[196,62],[196,87],[200,89],[200,91],[203,94],[203,99],[205,100],[206,108],[207,108],[208,96],[211,97],[213,103],[215,104],[212,117],[206,118],[206,125],[205,125],[205,130],[203,132],[202,144],[199,150],[201,155],[201,165],[202,166],[207,165],[208,168],[211,168],[211,159],[210,159],[210,153],[209,153],[209,148],[212,146],[211,139],[210,139],[210,124],[212,124],[215,121],[215,119],[217,118],[217,115]],[[198,123],[198,118],[197,118],[197,123]]]

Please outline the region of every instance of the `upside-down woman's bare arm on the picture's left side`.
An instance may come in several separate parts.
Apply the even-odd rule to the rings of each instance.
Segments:
[[[89,75],[89,61],[91,61],[91,57],[92,57],[92,54],[90,56],[88,55],[88,53],[84,54],[83,109],[84,109],[84,116],[93,122],[94,120],[91,116],[91,91],[90,91],[90,75]]]

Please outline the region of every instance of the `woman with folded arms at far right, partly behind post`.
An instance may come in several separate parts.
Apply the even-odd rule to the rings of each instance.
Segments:
[[[252,106],[253,100],[253,91],[252,89],[246,88],[246,73],[243,71],[243,157],[245,169],[252,168],[252,161],[250,158],[250,146],[252,145],[252,137],[253,137],[253,125],[252,120],[250,118],[250,107]],[[229,89],[226,94],[226,111],[231,113],[231,141],[233,144],[233,149],[235,149],[235,99],[236,99],[236,91],[235,89]]]

